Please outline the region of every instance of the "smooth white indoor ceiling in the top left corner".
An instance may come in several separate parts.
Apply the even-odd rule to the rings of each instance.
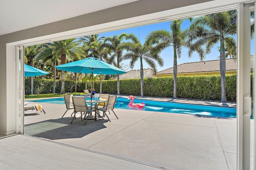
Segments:
[[[0,35],[137,0],[1,0]]]

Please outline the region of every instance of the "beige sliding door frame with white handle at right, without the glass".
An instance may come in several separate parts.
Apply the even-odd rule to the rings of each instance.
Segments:
[[[237,169],[250,169],[250,115],[251,78],[250,78],[250,14],[254,2],[238,6],[238,48],[237,48]],[[254,31],[255,35],[255,31]],[[255,37],[255,36],[254,36]],[[255,54],[255,53],[254,53]],[[254,163],[255,170],[255,163]]]

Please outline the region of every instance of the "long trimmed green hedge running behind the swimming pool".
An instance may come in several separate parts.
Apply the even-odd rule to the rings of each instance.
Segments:
[[[251,75],[251,78],[253,75]],[[74,92],[73,80],[65,81],[65,92]],[[100,82],[94,84],[96,92],[100,91]],[[56,80],[56,93],[60,93],[61,81]],[[52,93],[53,80],[35,79],[34,94]],[[83,92],[85,84],[77,82],[77,92]],[[90,89],[90,83],[88,83]],[[102,92],[116,94],[117,80],[103,80]],[[25,79],[25,94],[30,94],[30,78]],[[140,78],[120,80],[120,94],[140,96]],[[173,96],[173,77],[144,78],[144,96]],[[179,76],[177,78],[177,97],[203,100],[220,100],[220,76]],[[226,75],[226,98],[236,101],[236,75]]]

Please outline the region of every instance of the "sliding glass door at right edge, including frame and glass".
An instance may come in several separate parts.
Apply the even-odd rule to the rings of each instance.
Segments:
[[[239,4],[237,86],[237,169],[255,167],[254,3]]]

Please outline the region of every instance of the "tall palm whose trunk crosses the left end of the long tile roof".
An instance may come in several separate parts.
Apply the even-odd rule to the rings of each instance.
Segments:
[[[171,21],[170,31],[164,29],[152,31],[146,38],[148,43],[156,44],[153,51],[162,51],[169,46],[173,46],[173,98],[177,97],[177,58],[181,56],[182,47],[186,46],[186,31],[182,31],[180,27],[184,20],[186,19]],[[189,18],[189,20],[191,21],[192,19]]]

